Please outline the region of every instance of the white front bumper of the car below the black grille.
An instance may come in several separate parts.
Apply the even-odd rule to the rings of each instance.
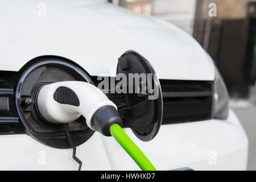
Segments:
[[[232,110],[227,121],[163,125],[150,142],[137,139],[130,129],[125,131],[156,169],[244,170],[247,166],[248,140]],[[78,168],[71,149],[47,147],[26,134],[2,135],[0,147],[2,170]],[[139,170],[114,138],[100,133],[77,147],[77,156],[83,162],[83,170]]]

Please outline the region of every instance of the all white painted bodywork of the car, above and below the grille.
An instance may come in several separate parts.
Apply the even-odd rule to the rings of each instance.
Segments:
[[[46,16],[39,16],[45,3]],[[0,0],[0,69],[19,71],[31,59],[55,55],[90,75],[114,76],[127,49],[141,53],[159,78],[214,80],[214,64],[180,28],[102,1]],[[225,121],[163,125],[150,142],[126,133],[156,169],[236,169],[247,166],[248,139],[232,110]],[[0,169],[76,170],[72,150],[45,146],[26,134],[0,136]],[[112,137],[95,133],[77,147],[84,170],[139,169]]]

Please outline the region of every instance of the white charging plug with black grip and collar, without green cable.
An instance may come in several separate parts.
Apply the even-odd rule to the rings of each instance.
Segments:
[[[83,115],[90,129],[108,136],[111,124],[122,123],[117,106],[100,89],[87,82],[63,81],[45,85],[36,100],[40,114],[51,123],[69,123]],[[100,113],[104,117],[100,117]],[[98,126],[98,122],[109,123],[108,130],[103,131],[105,126]]]

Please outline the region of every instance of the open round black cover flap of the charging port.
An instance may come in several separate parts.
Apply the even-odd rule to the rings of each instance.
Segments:
[[[127,93],[125,93],[127,107],[118,109],[123,115],[123,123],[129,126],[139,139],[143,141],[153,139],[160,129],[163,117],[162,90],[154,68],[138,52],[130,50],[119,57],[118,73],[124,73],[127,78]],[[134,78],[136,77],[134,73],[138,73],[137,79]],[[143,75],[146,76],[146,81]],[[143,85],[146,90],[142,91]],[[135,93],[136,89],[137,93]],[[133,90],[133,93],[129,90]]]

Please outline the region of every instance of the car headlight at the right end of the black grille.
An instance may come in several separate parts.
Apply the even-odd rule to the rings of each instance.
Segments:
[[[218,72],[217,68],[215,71],[213,85],[213,118],[226,119],[229,113],[229,95],[220,72]]]

